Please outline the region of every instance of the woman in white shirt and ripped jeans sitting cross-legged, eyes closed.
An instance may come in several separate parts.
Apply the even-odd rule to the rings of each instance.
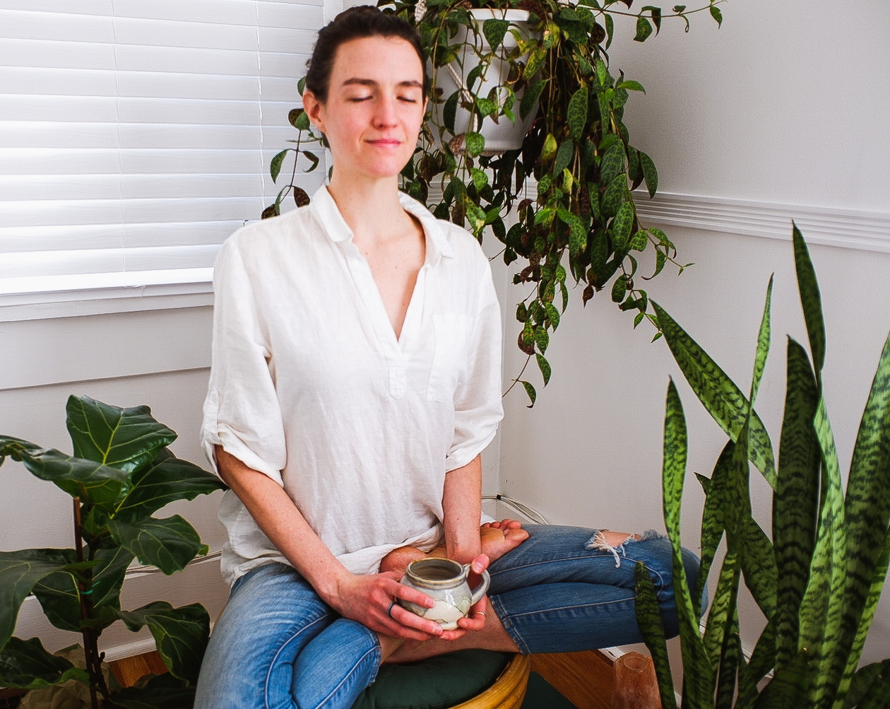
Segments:
[[[330,184],[220,252],[204,440],[231,485],[232,591],[197,707],[349,707],[382,662],[639,640],[637,558],[676,625],[663,539],[599,533],[587,549],[595,530],[480,531],[480,454],[502,416],[499,306],[472,236],[398,191],[427,86],[407,24],[373,7],[338,15],[303,94]],[[432,607],[398,583],[430,550],[490,565],[491,604],[456,631],[395,604]]]

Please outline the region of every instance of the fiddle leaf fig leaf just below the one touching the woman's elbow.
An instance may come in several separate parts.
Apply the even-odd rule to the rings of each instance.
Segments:
[[[196,556],[207,553],[195,528],[179,515],[149,517],[139,522],[112,519],[109,531],[114,541],[143,564],[158,566],[165,574],[181,571]]]

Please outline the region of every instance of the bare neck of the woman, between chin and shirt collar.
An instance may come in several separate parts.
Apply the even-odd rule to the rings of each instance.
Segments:
[[[356,237],[367,239],[391,233],[395,224],[406,219],[399,201],[398,177],[373,181],[337,177],[335,168],[328,192]]]

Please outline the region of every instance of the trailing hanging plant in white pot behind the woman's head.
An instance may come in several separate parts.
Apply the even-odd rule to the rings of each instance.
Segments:
[[[568,306],[570,283],[581,288],[582,304],[605,289],[634,314],[634,327],[648,319],[658,338],[645,282],[667,264],[678,273],[690,265],[677,261],[667,234],[637,213],[635,190],[644,186],[654,196],[658,171],[631,143],[625,124],[631,94],[644,90],[610,69],[615,18],[635,18],[634,39],[643,42],[670,17],[689,29],[689,15],[707,10],[719,24],[719,2],[695,10],[676,5],[673,12],[648,4],[632,12],[633,0],[378,3],[417,29],[432,68],[425,129],[401,189],[477,239],[500,242],[522,289],[517,344],[527,363],[535,359],[545,386],[546,349]],[[511,19],[508,12],[517,10],[525,20]],[[302,94],[302,80],[298,88]],[[278,215],[288,195],[307,204],[297,173],[320,163],[323,137],[312,132],[303,109],[288,119],[297,136],[272,159],[271,176],[278,180],[292,159],[289,182],[263,217]],[[528,127],[513,148],[491,150],[490,129],[509,123]],[[533,404],[535,387],[521,378],[514,385],[522,383]]]

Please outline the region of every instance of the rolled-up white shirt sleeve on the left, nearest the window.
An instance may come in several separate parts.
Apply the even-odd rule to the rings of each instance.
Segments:
[[[240,250],[239,233],[221,249],[214,268],[213,364],[204,403],[202,444],[216,468],[221,445],[249,468],[282,484],[287,453],[263,316]]]

